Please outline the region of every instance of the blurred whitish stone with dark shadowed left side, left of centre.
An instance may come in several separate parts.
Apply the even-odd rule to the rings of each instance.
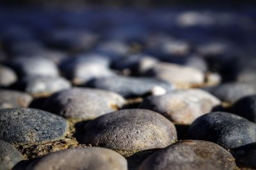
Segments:
[[[86,83],[93,78],[113,76],[109,69],[110,61],[104,55],[88,54],[64,60],[61,71],[76,85]]]

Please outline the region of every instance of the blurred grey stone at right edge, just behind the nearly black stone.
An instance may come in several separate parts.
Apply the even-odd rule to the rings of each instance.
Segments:
[[[256,85],[254,83],[223,83],[214,87],[204,88],[221,101],[235,103],[237,100],[256,94]]]

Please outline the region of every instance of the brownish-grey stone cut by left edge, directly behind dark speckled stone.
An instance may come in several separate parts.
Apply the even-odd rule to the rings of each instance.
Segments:
[[[0,108],[26,108],[32,100],[25,92],[0,89]]]

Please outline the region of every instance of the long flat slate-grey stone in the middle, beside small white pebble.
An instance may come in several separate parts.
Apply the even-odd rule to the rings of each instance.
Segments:
[[[143,96],[154,94],[154,89],[160,88],[165,92],[173,90],[173,85],[156,78],[135,78],[127,76],[112,76],[95,78],[87,84],[89,87],[110,90],[124,97]]]

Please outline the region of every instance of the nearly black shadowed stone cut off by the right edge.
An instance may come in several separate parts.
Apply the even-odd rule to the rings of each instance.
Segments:
[[[231,108],[232,113],[256,122],[256,96],[243,97]]]

